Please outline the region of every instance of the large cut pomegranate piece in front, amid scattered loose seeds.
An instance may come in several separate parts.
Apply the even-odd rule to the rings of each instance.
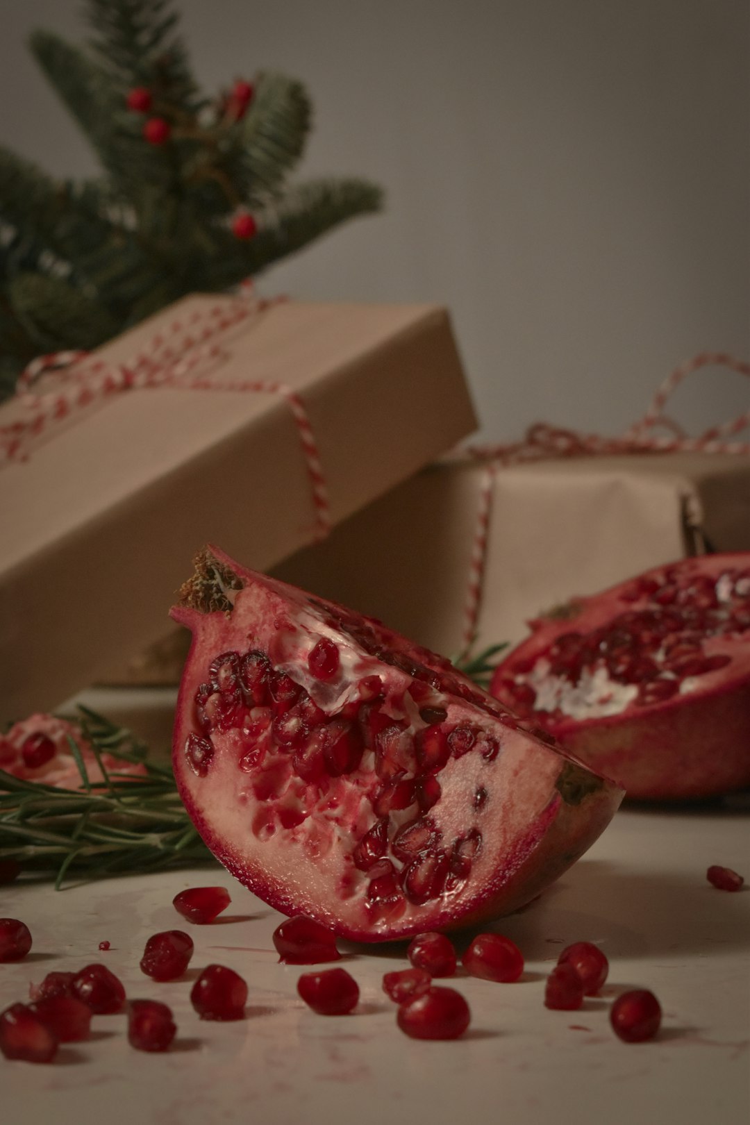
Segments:
[[[208,847],[283,914],[363,942],[494,917],[614,814],[616,786],[442,657],[216,549],[196,566],[172,611],[193,632],[178,786]]]

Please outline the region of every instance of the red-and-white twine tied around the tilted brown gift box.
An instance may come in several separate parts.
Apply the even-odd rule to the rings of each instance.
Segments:
[[[225,357],[220,338],[229,328],[259,316],[283,298],[260,299],[250,282],[241,286],[242,302],[219,302],[193,309],[161,328],[148,344],[126,363],[107,363],[84,351],[54,352],[33,360],[21,374],[16,397],[26,416],[0,426],[0,466],[26,460],[29,443],[78,410],[97,399],[129,389],[169,387],[175,390],[233,390],[277,395],[289,406],[297,426],[315,508],[315,539],[331,531],[331,505],[325,474],[307,408],[292,387],[256,379],[217,380],[190,376],[193,368]],[[56,371],[56,386],[37,392],[42,375]]]

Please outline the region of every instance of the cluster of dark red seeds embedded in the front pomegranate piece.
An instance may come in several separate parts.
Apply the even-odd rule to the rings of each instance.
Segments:
[[[390,921],[408,904],[423,906],[466,885],[482,847],[481,818],[488,809],[491,816],[493,802],[478,783],[467,808],[470,827],[445,839],[431,814],[442,795],[439,775],[469,753],[493,762],[500,750],[498,719],[507,727],[518,723],[457,677],[442,657],[422,649],[401,652],[380,644],[365,620],[343,610],[333,619],[324,609],[322,628],[335,627],[368,656],[413,677],[400,696],[387,699],[381,675],[353,675],[351,656],[327,636],[302,651],[297,678],[257,648],[225,651],[208,663],[195,690],[193,729],[183,754],[201,778],[213,768],[217,740],[223,754],[231,747],[240,778],[247,775],[238,784],[252,793],[252,832],[261,842],[288,834],[310,854],[334,840],[326,810],[341,799],[338,778],[356,775],[344,890],[362,894],[371,920]],[[491,716],[495,734],[449,721],[448,693],[479,705],[488,724]]]

